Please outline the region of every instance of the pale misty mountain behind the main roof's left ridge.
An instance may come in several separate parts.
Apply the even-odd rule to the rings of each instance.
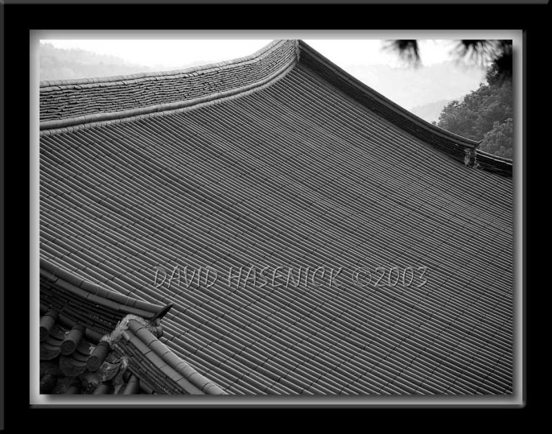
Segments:
[[[150,67],[130,63],[116,56],[99,55],[88,50],[56,48],[50,43],[40,44],[39,57],[41,81],[130,75],[139,72],[185,69],[210,63],[195,61],[176,68],[163,65]]]

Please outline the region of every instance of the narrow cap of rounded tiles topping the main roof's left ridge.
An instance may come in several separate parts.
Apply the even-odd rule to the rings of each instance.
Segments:
[[[278,43],[282,43],[284,39],[275,39],[266,46],[255,51],[251,55],[244,57],[237,57],[235,59],[230,59],[226,61],[219,61],[215,63],[205,63],[204,65],[190,66],[189,68],[181,68],[175,70],[166,70],[166,71],[151,71],[151,72],[136,72],[135,74],[129,75],[111,75],[108,77],[87,77],[81,79],[60,79],[60,80],[43,80],[40,82],[39,86],[41,88],[46,87],[62,87],[62,86],[74,86],[82,84],[90,84],[92,86],[101,86],[102,83],[112,83],[114,81],[130,81],[130,80],[142,80],[144,79],[157,79],[158,77],[174,77],[177,75],[189,75],[193,72],[199,71],[210,71],[210,70],[219,70],[222,68],[228,68],[228,66],[237,65],[239,63],[244,63],[251,61],[257,57],[262,56],[265,52],[276,46]]]

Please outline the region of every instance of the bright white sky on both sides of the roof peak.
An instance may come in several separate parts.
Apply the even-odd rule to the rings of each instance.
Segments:
[[[78,48],[118,57],[139,70],[174,70],[244,57],[270,39],[41,39],[55,48]],[[422,40],[422,66],[406,65],[380,39],[305,39],[306,43],[371,88],[407,109],[461,98],[484,81],[484,69],[455,61],[454,41]],[[101,74],[95,69],[95,75]],[[59,72],[63,75],[63,72]],[[109,75],[106,72],[106,75]],[[49,77],[50,78],[50,77]],[[59,79],[77,77],[56,77]]]

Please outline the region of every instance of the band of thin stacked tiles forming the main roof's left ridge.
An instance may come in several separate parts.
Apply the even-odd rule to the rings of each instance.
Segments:
[[[40,121],[84,117],[197,99],[275,74],[295,59],[296,41],[276,41],[255,55],[208,68],[107,79],[44,81]]]

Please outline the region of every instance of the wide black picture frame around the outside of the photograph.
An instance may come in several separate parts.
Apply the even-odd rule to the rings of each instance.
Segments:
[[[82,417],[77,411],[64,413],[63,409],[34,409],[29,406],[29,384],[26,382],[29,360],[26,336],[29,332],[28,321],[28,275],[30,257],[30,238],[26,237],[29,226],[30,203],[26,193],[30,190],[29,164],[30,146],[29,121],[29,75],[30,56],[29,41],[32,29],[159,29],[181,28],[183,17],[188,26],[195,29],[328,29],[328,34],[337,29],[387,28],[387,29],[481,29],[481,28],[515,28],[523,30],[524,54],[524,101],[517,101],[524,112],[524,132],[526,137],[533,137],[533,142],[540,139],[539,126],[546,125],[543,112],[539,112],[533,101],[538,99],[531,90],[535,90],[544,74],[540,69],[540,59],[533,53],[546,52],[546,12],[548,4],[505,4],[513,2],[489,1],[486,5],[474,6],[472,2],[460,1],[454,5],[437,5],[437,2],[426,4],[347,4],[331,5],[323,2],[304,2],[302,5],[289,5],[282,2],[271,4],[226,3],[185,4],[177,1],[164,3],[146,3],[139,1],[121,1],[108,5],[103,1],[88,1],[86,4],[75,2],[10,2],[1,4],[2,43],[1,50],[1,87],[3,98],[0,111],[2,114],[0,146],[2,224],[0,250],[2,270],[0,286],[2,290],[0,306],[2,378],[0,379],[3,395],[0,404],[4,408],[0,427],[14,429],[21,424],[28,424],[33,418],[57,420],[68,417],[76,421]],[[175,4],[179,3],[179,4]],[[393,2],[395,3],[395,2]],[[400,2],[403,3],[403,2]],[[405,2],[406,3],[406,2]],[[538,3],[538,2],[535,2]],[[542,2],[540,2],[542,3]],[[397,8],[401,8],[398,10]],[[400,12],[399,12],[400,11]],[[254,18],[252,18],[254,17]],[[414,19],[415,17],[415,19]],[[446,20],[435,21],[435,17],[446,17]],[[530,75],[530,76],[529,76]],[[531,77],[531,81],[528,81]],[[534,77],[534,78],[533,78]],[[542,83],[546,83],[544,77]],[[529,129],[528,129],[529,128]],[[524,144],[529,139],[524,137]],[[542,139],[541,139],[542,140]],[[526,222],[526,146],[522,147],[524,155],[524,197],[522,207],[523,221]],[[523,226],[523,246],[516,246],[524,258],[526,266],[526,228]],[[524,297],[526,302],[526,275],[524,273]],[[526,305],[526,303],[524,303]],[[527,319],[529,315],[524,315]],[[524,347],[528,340],[524,337]],[[526,355],[524,355],[526,369]],[[531,377],[525,371],[524,384]],[[526,392],[526,389],[525,389]],[[531,407],[531,398],[525,395],[522,407]],[[206,406],[208,408],[208,406]],[[296,408],[295,406],[289,406]],[[333,406],[331,406],[333,407]],[[23,411],[24,419],[18,417],[12,408]],[[212,410],[213,408],[211,408]],[[134,413],[141,409],[135,408]],[[180,408],[182,410],[182,408]],[[220,408],[217,409],[221,411]],[[48,411],[48,415],[44,412]],[[110,408],[103,408],[103,414],[111,413]],[[188,408],[186,411],[191,411]],[[28,413],[27,413],[28,412]],[[79,410],[80,412],[80,410]],[[126,411],[125,411],[126,412]],[[50,415],[51,413],[51,415]],[[197,412],[196,412],[197,413]],[[69,415],[68,415],[69,414]],[[226,410],[228,414],[228,410]],[[388,413],[387,413],[388,415]],[[110,416],[111,417],[111,416]],[[210,417],[197,413],[197,417]],[[123,417],[124,419],[124,417]],[[24,422],[23,422],[24,421]]]

